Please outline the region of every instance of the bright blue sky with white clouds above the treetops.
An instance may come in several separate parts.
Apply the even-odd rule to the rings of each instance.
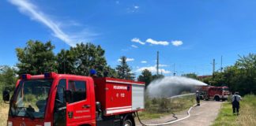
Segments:
[[[76,43],[105,50],[115,68],[126,56],[143,69],[171,76],[210,75],[256,53],[256,1],[240,0],[2,0],[0,65],[15,66],[15,49],[28,40],[51,41],[55,54]]]

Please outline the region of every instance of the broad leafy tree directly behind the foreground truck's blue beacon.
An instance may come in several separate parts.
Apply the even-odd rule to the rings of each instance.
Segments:
[[[105,51],[92,43],[79,43],[70,50],[57,54],[58,72],[89,76],[90,69],[96,69],[97,76],[115,76],[115,70],[107,65]],[[106,75],[105,75],[106,76]]]

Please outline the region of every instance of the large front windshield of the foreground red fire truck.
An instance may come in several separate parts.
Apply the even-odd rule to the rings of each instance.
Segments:
[[[11,100],[14,117],[43,118],[52,80],[21,80]]]

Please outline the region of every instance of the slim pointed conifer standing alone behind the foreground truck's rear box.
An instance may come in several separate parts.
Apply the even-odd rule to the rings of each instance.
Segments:
[[[122,56],[120,57],[120,64],[116,67],[118,77],[120,79],[126,79],[126,80],[134,80],[135,76],[134,73],[132,73],[130,66],[126,62],[126,57]]]

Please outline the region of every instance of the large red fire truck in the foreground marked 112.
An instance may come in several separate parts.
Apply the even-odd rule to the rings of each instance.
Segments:
[[[57,74],[17,81],[9,100],[8,126],[134,126],[144,109],[145,83],[114,78]]]

